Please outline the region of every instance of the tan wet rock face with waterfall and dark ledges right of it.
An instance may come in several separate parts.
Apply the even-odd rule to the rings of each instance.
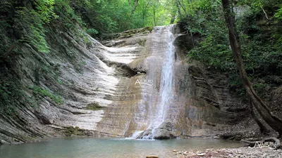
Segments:
[[[140,37],[123,40],[132,38]],[[128,63],[144,73],[119,82],[123,91],[105,111],[99,132],[156,139],[217,136],[247,116],[246,105],[228,91],[225,74],[188,64],[185,54],[192,39],[178,26],[154,27],[145,38],[140,56]],[[137,79],[152,85],[135,84]]]

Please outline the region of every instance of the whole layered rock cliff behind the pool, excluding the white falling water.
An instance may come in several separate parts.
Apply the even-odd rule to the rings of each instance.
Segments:
[[[124,32],[102,45],[87,35],[89,41],[85,43],[74,34],[50,30],[47,39],[51,52],[47,54],[37,53],[26,44],[26,55],[15,63],[20,84],[47,89],[61,96],[63,103],[44,96],[35,106],[18,105],[16,115],[2,114],[1,142],[25,143],[67,133],[157,139],[207,137],[227,133],[231,126],[246,120],[254,122],[242,117],[246,107],[228,91],[225,74],[188,64],[185,54],[190,46],[180,45],[191,45],[191,37],[180,34],[178,25],[150,31]],[[158,114],[168,32],[175,37],[176,47],[173,97],[164,104],[164,121],[150,129]],[[48,74],[53,72],[47,68],[56,74]],[[136,84],[137,79],[152,81],[153,85]],[[32,96],[34,90],[25,88],[25,93]],[[152,130],[154,135],[146,137]]]

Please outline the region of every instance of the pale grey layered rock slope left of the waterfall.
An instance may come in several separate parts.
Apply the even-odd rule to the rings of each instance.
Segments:
[[[47,54],[36,52],[28,44],[23,46],[25,55],[17,59],[15,71],[26,95],[32,98],[37,93],[38,102],[18,104],[16,114],[1,114],[1,142],[25,143],[65,134],[114,136],[114,132],[97,132],[97,123],[102,117],[109,117],[123,124],[123,120],[133,114],[115,119],[106,107],[133,105],[140,99],[140,88],[130,88],[128,84],[144,72],[135,77],[137,70],[129,64],[141,56],[145,36],[149,34],[147,29],[140,29],[140,36],[129,41],[116,40],[120,45],[111,48],[83,34],[80,28],[78,32],[83,38],[51,29],[47,36],[51,52]],[[63,103],[56,103],[51,95],[46,96],[47,91],[61,96]],[[109,121],[109,126],[114,126],[114,121]],[[78,131],[73,127],[78,127],[75,128]]]

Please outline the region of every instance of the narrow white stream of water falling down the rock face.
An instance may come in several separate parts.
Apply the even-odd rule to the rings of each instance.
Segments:
[[[153,107],[149,105],[151,109],[150,115],[151,119],[149,120],[149,126],[147,130],[142,133],[141,137],[145,139],[154,138],[156,129],[161,126],[162,123],[166,120],[167,110],[171,104],[171,99],[174,97],[174,74],[173,74],[173,64],[175,62],[175,46],[173,46],[173,41],[176,39],[172,30],[174,25],[168,25],[164,27],[159,27],[161,34],[166,33],[166,48],[162,52],[164,61],[162,63],[161,70],[161,79],[159,87],[159,96],[157,97],[157,105]],[[154,109],[154,110],[152,110]],[[154,116],[154,117],[152,117]],[[138,131],[140,133],[140,131]],[[133,136],[136,136],[134,133]]]

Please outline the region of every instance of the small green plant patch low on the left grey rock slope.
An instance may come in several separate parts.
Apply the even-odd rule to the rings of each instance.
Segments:
[[[35,96],[37,97],[49,97],[51,100],[53,100],[55,103],[57,104],[62,104],[63,100],[61,98],[61,96],[56,96],[53,93],[51,93],[51,91],[39,87],[39,86],[33,86],[33,87],[29,87],[30,89],[32,89],[33,93],[35,93]]]

